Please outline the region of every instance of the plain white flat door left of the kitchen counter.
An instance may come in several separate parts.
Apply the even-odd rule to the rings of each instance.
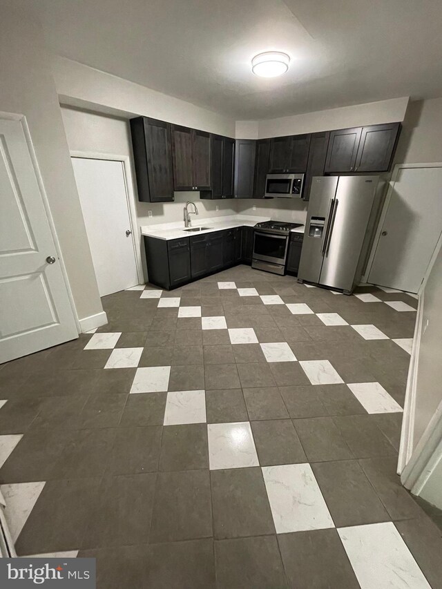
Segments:
[[[72,158],[100,296],[140,281],[123,162]]]

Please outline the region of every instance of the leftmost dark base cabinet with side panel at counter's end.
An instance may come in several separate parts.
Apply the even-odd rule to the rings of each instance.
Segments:
[[[166,241],[144,235],[144,248],[150,282],[169,290],[191,280],[189,238]]]

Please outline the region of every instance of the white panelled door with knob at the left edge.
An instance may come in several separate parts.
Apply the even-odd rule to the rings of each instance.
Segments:
[[[77,337],[23,126],[0,118],[0,363]]]

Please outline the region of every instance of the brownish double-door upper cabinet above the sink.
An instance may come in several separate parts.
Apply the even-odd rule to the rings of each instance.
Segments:
[[[180,125],[171,125],[171,134],[175,190],[209,190],[209,133]]]

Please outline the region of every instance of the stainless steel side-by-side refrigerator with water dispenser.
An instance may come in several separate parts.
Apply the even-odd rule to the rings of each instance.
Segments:
[[[380,176],[314,177],[298,280],[352,292],[367,263],[384,187]]]

